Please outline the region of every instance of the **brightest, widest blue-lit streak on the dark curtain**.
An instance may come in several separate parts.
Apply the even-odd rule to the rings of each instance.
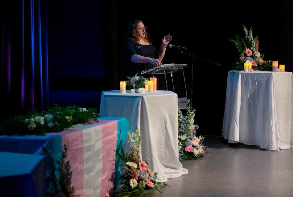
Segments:
[[[34,0],[30,1],[31,3],[31,108],[35,108],[35,100],[34,100],[34,86],[35,86],[35,15],[34,15]]]

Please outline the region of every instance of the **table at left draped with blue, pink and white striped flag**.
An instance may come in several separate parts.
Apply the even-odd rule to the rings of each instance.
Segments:
[[[5,196],[45,196],[42,146],[60,160],[66,144],[72,184],[82,196],[112,196],[119,160],[115,150],[126,141],[126,118],[101,117],[99,123],[73,125],[44,136],[0,136],[0,189]],[[14,185],[17,183],[17,185]],[[9,187],[8,187],[9,186]]]

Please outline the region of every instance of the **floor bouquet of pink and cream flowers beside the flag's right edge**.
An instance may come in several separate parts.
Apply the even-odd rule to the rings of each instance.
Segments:
[[[129,128],[131,130],[131,127]],[[147,196],[148,190],[158,190],[167,186],[165,183],[157,182],[157,173],[148,168],[148,158],[142,161],[141,136],[136,127],[136,132],[131,131],[127,134],[130,144],[130,153],[124,152],[121,145],[121,152],[116,150],[116,155],[120,159],[123,169],[118,178],[118,187],[115,190],[115,196]]]

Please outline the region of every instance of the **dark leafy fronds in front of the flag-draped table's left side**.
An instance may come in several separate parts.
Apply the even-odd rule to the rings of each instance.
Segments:
[[[67,157],[66,145],[64,144],[64,151],[62,151],[61,160],[57,161],[58,169],[55,166],[51,152],[44,147],[42,147],[42,149],[50,166],[46,173],[46,196],[77,197],[78,195],[75,194],[75,188],[73,186],[71,187],[71,165],[69,161],[65,162],[65,158]],[[59,172],[58,178],[55,174],[56,171]]]

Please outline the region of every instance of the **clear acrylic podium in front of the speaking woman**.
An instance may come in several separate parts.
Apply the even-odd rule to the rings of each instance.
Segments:
[[[173,82],[173,73],[182,70],[184,85],[185,85],[185,93],[186,93],[186,97],[187,97],[186,82],[185,82],[185,76],[184,76],[184,71],[183,71],[183,69],[185,69],[187,67],[188,67],[187,64],[174,64],[174,63],[162,64],[162,65],[155,66],[155,67],[148,69],[148,70],[141,70],[141,74],[151,74],[152,76],[154,76],[154,74],[164,74],[165,80],[166,80],[166,87],[168,90],[168,83],[167,83],[166,74],[170,73],[171,79],[172,79],[172,85],[173,85],[173,92],[175,92],[174,82]]]

